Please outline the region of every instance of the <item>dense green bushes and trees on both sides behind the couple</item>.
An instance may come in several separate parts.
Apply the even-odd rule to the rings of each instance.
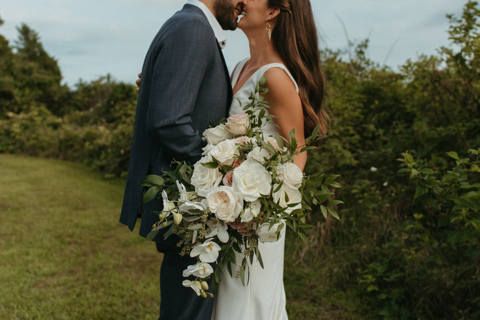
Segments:
[[[447,18],[450,44],[397,71],[366,57],[368,39],[322,51],[334,119],[306,171],[341,173],[346,204],[341,222],[316,208],[309,246],[289,258],[328,261],[312,275],[359,296],[362,317],[480,318],[478,3]],[[38,34],[18,31],[11,44],[0,35],[0,152],[124,175],[135,87],[109,76],[62,85]]]

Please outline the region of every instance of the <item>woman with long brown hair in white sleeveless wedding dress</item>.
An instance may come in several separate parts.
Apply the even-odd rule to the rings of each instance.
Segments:
[[[231,75],[233,102],[229,114],[243,113],[250,91],[262,75],[269,91],[264,98],[275,125],[263,128],[265,136],[277,132],[288,137],[292,128],[298,145],[304,144],[317,124],[326,134],[328,115],[322,108],[325,77],[320,66],[318,36],[309,0],[243,0],[238,27],[248,37],[250,57],[240,61]],[[141,77],[141,74],[139,74]],[[140,84],[140,79],[137,80]],[[306,152],[294,158],[303,170]],[[211,320],[285,320],[283,252],[285,235],[277,242],[259,243],[264,269],[250,267],[248,285],[222,270]],[[242,256],[237,254],[236,260]],[[234,267],[234,266],[233,266]],[[232,267],[232,269],[233,269]]]

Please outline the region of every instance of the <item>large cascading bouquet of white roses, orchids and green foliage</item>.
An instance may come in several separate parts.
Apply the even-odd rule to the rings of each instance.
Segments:
[[[295,154],[316,148],[312,144],[321,138],[318,127],[302,146],[297,145],[294,130],[288,139],[263,135],[262,126],[274,118],[265,115],[268,103],[259,94],[267,92],[264,83],[262,78],[251,93],[245,113],[203,132],[207,145],[199,161],[194,165],[175,161],[174,171],[148,175],[141,182],[148,187],[144,202],[159,194],[163,199],[162,211],[153,212],[159,221],[147,238],[161,228],[168,228],[165,238],[172,233],[180,237],[180,254],[198,261],[183,270],[182,284],[202,297],[213,296],[205,280],[213,277],[216,290],[224,265],[232,276],[234,251],[243,254],[235,276],[244,285],[254,257],[263,267],[258,242],[277,241],[285,226],[306,241],[301,230],[312,226],[305,222],[312,205],[319,205],[325,218],[328,213],[339,218],[333,206],[343,202],[328,201],[333,195],[328,185],[340,187],[334,181],[338,175],[305,175],[293,163]],[[215,271],[212,263],[218,263]]]

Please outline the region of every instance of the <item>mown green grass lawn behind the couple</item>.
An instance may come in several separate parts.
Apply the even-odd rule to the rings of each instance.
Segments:
[[[0,176],[0,319],[157,318],[161,254],[118,222],[123,179],[8,154]],[[328,287],[324,257],[296,263],[296,241],[287,236],[290,319],[364,319]]]

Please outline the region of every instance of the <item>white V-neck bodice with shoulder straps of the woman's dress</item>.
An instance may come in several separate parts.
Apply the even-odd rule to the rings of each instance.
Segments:
[[[238,78],[240,76],[241,70],[245,63],[249,60],[249,58],[243,59],[240,61],[233,71],[232,78],[231,78],[231,85],[235,87]],[[262,75],[269,69],[269,68],[280,68],[285,71],[285,73],[290,77],[291,81],[295,85],[296,92],[298,92],[298,85],[291,75],[290,71],[286,68],[286,66],[282,63],[269,63],[265,64],[260,67],[258,70],[253,72],[253,74],[246,80],[246,82],[238,89],[238,91],[233,95],[233,101],[230,106],[230,110],[228,115],[237,114],[237,113],[244,113],[242,106],[248,104],[248,97],[252,92],[255,91],[255,86],[262,77]],[[257,94],[258,97],[258,94]],[[241,106],[238,102],[241,102]],[[265,114],[268,114],[268,110],[265,110]],[[262,127],[263,134],[266,136],[274,135],[277,133],[277,128],[273,123],[267,123]]]

